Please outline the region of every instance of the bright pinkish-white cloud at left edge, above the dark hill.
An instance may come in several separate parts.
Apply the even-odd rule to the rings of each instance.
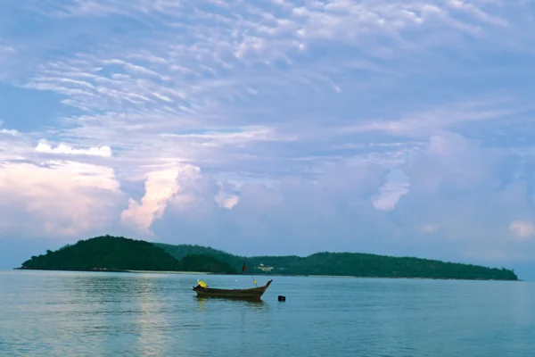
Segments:
[[[110,228],[122,193],[110,168],[70,161],[0,165],[0,227],[27,237],[80,237]]]

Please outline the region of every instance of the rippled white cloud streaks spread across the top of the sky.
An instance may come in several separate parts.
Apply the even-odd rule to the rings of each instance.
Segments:
[[[433,26],[437,23],[447,29],[459,27],[465,22],[465,26],[469,26],[473,21],[493,26],[498,16],[490,12],[500,13],[500,9],[492,6],[480,4],[476,7],[460,1],[441,4],[443,7],[416,1],[393,1],[388,5],[381,1],[328,1],[307,3],[303,7],[295,7],[288,2],[284,3],[282,13],[263,10],[258,7],[260,4],[243,6],[241,1],[229,1],[224,6],[216,4],[215,7],[210,4],[206,8],[203,4],[206,2],[180,4],[180,12],[176,11],[176,4],[141,0],[113,4],[84,0],[57,5],[56,8],[62,9],[58,10],[62,15],[119,14],[143,19],[155,26],[161,26],[159,16],[165,13],[164,23],[179,25],[189,36],[163,26],[161,38],[157,41],[148,36],[127,38],[120,48],[106,46],[108,41],[103,41],[98,48],[91,48],[93,54],[78,52],[74,58],[48,62],[43,73],[30,79],[27,87],[67,95],[69,99],[64,103],[83,109],[118,110],[118,107],[122,109],[126,105],[161,106],[161,102],[170,104],[173,109],[184,102],[187,102],[183,105],[185,108],[189,108],[192,102],[216,104],[220,98],[247,97],[248,81],[260,79],[265,82],[266,79],[258,76],[258,72],[247,70],[252,64],[271,66],[271,81],[274,78],[282,81],[297,74],[301,66],[291,68],[291,71],[277,71],[272,64],[278,60],[294,63],[294,57],[300,56],[305,46],[303,37],[310,46],[322,46],[322,39],[342,42],[341,46],[354,46],[357,44],[355,39],[362,38],[367,53],[394,52],[390,48],[395,47],[399,49],[396,53],[402,55],[406,53],[402,49],[409,42],[404,38],[405,30],[419,30],[423,23],[432,33],[442,33],[443,29]],[[219,13],[221,7],[226,9],[225,16]],[[452,7],[463,10],[463,13],[452,12]],[[489,9],[485,11],[483,7]],[[184,13],[188,12],[192,12],[191,16],[197,21],[185,23]],[[436,13],[440,16],[437,17]],[[466,13],[469,14],[468,19]],[[214,16],[228,21],[213,21]],[[391,37],[395,44],[378,45],[381,41],[374,41],[374,38],[382,36]],[[363,61],[366,59],[365,56],[359,57]],[[352,62],[356,60],[354,56],[350,58]],[[333,68],[349,65],[344,62],[343,56],[332,55],[330,59],[331,65],[325,66],[330,70],[323,69],[322,73],[318,73],[319,69],[313,68],[314,63],[311,63],[301,67],[300,72],[320,74],[319,77],[323,74],[325,77],[326,71],[332,72]],[[127,71],[128,75],[122,71]],[[255,76],[243,76],[243,71],[255,73]],[[321,87],[325,84],[334,90],[341,88],[329,81],[317,83]],[[264,92],[268,91],[267,83],[260,85],[265,88]],[[169,95],[177,92],[180,92],[180,98]]]

